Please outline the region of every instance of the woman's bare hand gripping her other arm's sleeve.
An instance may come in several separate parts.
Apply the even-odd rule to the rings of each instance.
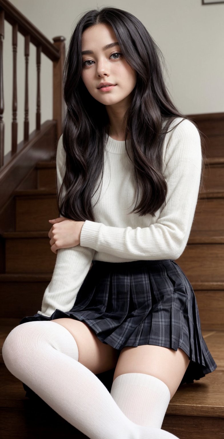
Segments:
[[[60,216],[59,218],[49,219],[53,223],[48,236],[50,239],[51,250],[57,254],[58,248],[75,247],[80,244],[80,234],[85,221],[74,221],[73,219]]]

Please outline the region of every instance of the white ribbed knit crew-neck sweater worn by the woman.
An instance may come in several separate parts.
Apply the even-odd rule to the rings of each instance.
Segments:
[[[181,120],[176,118],[169,131]],[[94,205],[101,190],[93,209],[95,222],[86,220],[83,224],[80,245],[58,249],[54,273],[38,313],[50,317],[55,309],[69,311],[92,260],[122,263],[178,259],[187,245],[195,215],[201,165],[199,132],[192,122],[183,119],[166,134],[163,143],[163,176],[168,186],[166,206],[163,204],[155,217],[129,214],[134,208],[133,165],[126,154],[125,142],[109,137],[105,145],[102,189],[100,185],[92,198]],[[58,141],[56,167],[59,190],[65,174],[62,135]]]

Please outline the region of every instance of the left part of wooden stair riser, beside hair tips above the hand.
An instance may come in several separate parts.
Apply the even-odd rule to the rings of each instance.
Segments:
[[[15,231],[50,230],[48,219],[58,218],[57,199],[54,195],[16,197]]]

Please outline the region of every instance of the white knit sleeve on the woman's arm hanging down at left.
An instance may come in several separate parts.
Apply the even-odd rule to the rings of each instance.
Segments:
[[[59,191],[65,175],[65,151],[62,135],[58,140],[56,169]],[[64,194],[65,191],[62,191],[62,197]],[[50,246],[49,252],[51,252]],[[94,249],[80,245],[57,250],[53,276],[44,291],[41,311],[38,311],[38,314],[51,317],[55,309],[66,312],[72,308],[79,288],[90,269],[94,252]]]

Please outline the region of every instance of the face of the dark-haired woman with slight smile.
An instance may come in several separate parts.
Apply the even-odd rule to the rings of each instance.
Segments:
[[[125,61],[119,44],[103,49],[103,46],[116,42],[112,27],[106,24],[91,26],[82,34],[82,51],[91,50],[93,53],[82,55],[84,64],[81,77],[91,96],[105,105],[121,101],[129,103],[128,96],[137,81],[137,73]],[[115,54],[116,52],[120,54]],[[102,82],[115,86],[101,91],[97,87]]]

